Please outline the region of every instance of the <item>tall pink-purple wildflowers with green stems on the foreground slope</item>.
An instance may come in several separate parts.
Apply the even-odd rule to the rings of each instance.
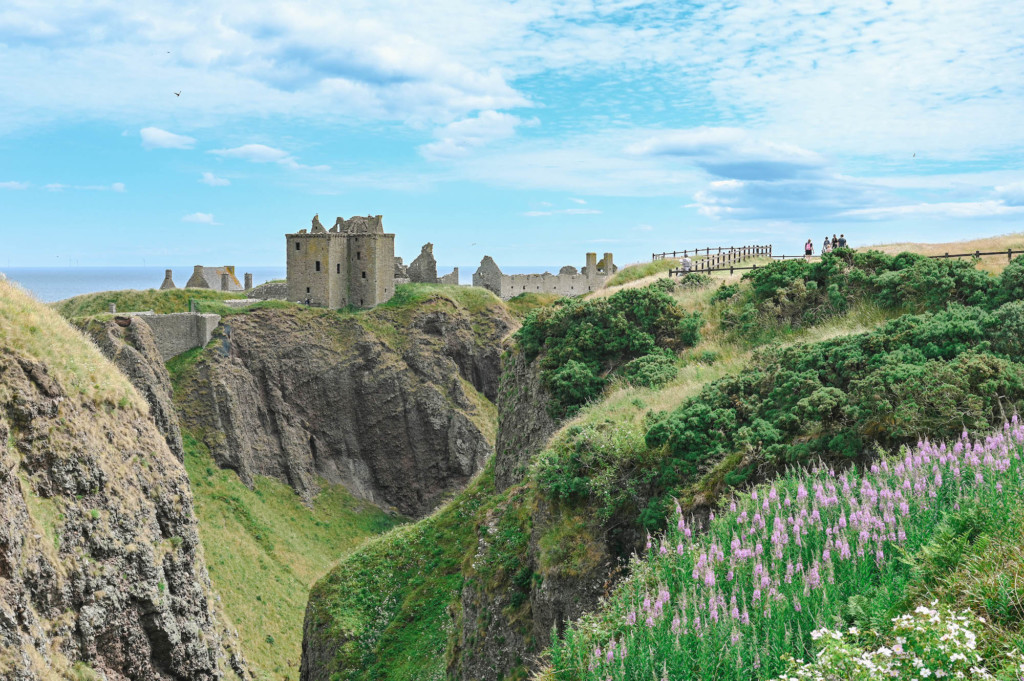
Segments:
[[[905,626],[908,557],[952,517],[983,513],[998,525],[1019,513],[1022,451],[1024,424],[1015,416],[982,438],[965,432],[951,443],[919,442],[868,470],[819,465],[791,472],[726,501],[699,527],[677,505],[665,536],[648,542],[645,560],[603,614],[556,638],[554,678],[840,678],[815,676],[802,665],[829,645],[866,643],[850,629],[851,613],[889,634]],[[968,614],[934,613],[969,629]],[[968,631],[964,640],[973,642],[974,635]],[[893,647],[882,650],[889,654],[886,669],[897,669]],[[980,656],[940,653],[912,655],[914,676],[988,673]],[[950,662],[952,654],[965,658]]]

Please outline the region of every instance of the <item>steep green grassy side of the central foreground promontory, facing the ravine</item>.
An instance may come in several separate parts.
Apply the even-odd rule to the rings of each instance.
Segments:
[[[335,650],[332,679],[444,679],[461,565],[495,503],[493,462],[433,515],[368,542],[313,587],[310,605]]]

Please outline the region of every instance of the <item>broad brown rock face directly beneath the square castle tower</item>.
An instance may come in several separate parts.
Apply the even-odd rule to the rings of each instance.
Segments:
[[[436,297],[364,315],[266,309],[230,317],[181,379],[184,425],[247,483],[317,477],[413,516],[463,487],[493,452],[486,399],[514,325]]]

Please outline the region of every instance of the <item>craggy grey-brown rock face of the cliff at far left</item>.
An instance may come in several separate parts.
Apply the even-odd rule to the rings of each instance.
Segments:
[[[0,677],[222,677],[191,493],[164,435],[7,347],[0,518]]]

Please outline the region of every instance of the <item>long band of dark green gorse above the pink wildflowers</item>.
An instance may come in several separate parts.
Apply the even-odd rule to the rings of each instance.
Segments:
[[[858,457],[872,445],[948,437],[1024,408],[1016,331],[1024,305],[904,315],[877,331],[760,353],[707,385],[646,435],[666,448],[660,485],[731,452],[777,464]]]

